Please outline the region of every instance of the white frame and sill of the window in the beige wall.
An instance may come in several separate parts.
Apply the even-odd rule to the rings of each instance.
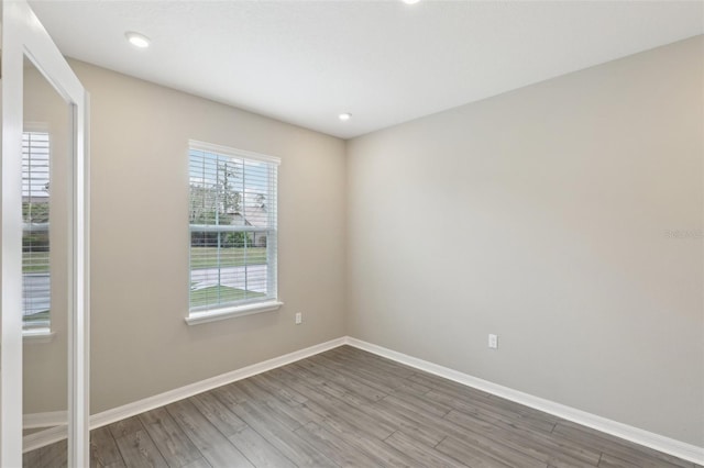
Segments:
[[[270,219],[267,223],[267,227],[270,231],[274,232],[274,236],[270,238],[267,235],[266,242],[266,266],[267,266],[267,290],[270,292],[268,297],[262,300],[245,300],[243,302],[235,303],[226,303],[219,307],[199,307],[191,308],[190,307],[190,278],[191,278],[191,232],[193,227],[197,226],[197,224],[188,224],[188,314],[186,315],[186,323],[189,325],[196,325],[200,323],[215,322],[219,320],[251,315],[255,313],[262,312],[271,312],[278,310],[284,303],[278,298],[278,166],[280,166],[280,159],[275,156],[263,155],[260,153],[254,153],[244,149],[237,149],[228,146],[217,145],[212,143],[206,143],[197,140],[188,141],[188,152],[187,152],[187,163],[190,165],[190,153],[191,151],[212,153],[220,156],[233,157],[238,159],[243,159],[244,161],[257,161],[264,163],[268,165],[274,165],[276,167],[276,177],[272,180],[271,177],[267,177],[268,183],[268,193],[274,193],[274,210],[270,213],[270,216],[274,216],[274,220]],[[190,180],[190,169],[188,169],[189,180]],[[190,196],[189,196],[189,205],[190,205]],[[215,231],[224,231],[224,229],[220,229],[217,225],[208,225],[212,226]],[[272,230],[272,226],[274,229]],[[228,230],[230,231],[230,230]],[[232,230],[233,232],[235,230]],[[255,229],[239,229],[238,232],[246,232],[246,231],[256,231]],[[261,230],[258,230],[261,231]]]

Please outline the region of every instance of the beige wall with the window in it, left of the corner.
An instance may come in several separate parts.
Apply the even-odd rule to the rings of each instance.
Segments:
[[[72,66],[91,98],[92,413],[344,334],[344,142]],[[280,157],[278,311],[184,322],[189,138]],[[25,379],[26,410],[55,409],[37,383]]]

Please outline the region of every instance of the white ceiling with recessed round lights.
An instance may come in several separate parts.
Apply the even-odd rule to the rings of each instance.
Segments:
[[[68,56],[343,138],[704,33],[702,1],[30,3]]]

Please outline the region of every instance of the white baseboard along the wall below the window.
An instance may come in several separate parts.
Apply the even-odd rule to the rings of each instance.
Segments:
[[[299,349],[294,353],[289,353],[283,356],[278,356],[262,363],[253,364],[241,369],[226,372],[220,376],[211,377],[199,382],[190,383],[185,387],[180,387],[174,390],[166,391],[164,393],[155,394],[153,397],[145,398],[132,403],[124,404],[122,406],[113,408],[111,410],[103,411],[90,416],[90,428],[97,428],[107,424],[114,423],[117,421],[131,417],[145,411],[154,410],[165,404],[174,403],[175,401],[183,400],[185,398],[193,397],[198,393],[202,393],[215,388],[246,379],[248,377],[255,376],[257,374],[266,372],[267,370],[275,369],[277,367],[285,366],[287,364],[295,363],[300,359],[327,352],[328,349],[336,348],[345,343],[346,337],[331,339],[319,345],[310,346],[305,349]],[[44,424],[48,419],[55,419],[54,413],[40,413],[32,415],[30,422],[33,424]],[[58,424],[62,424],[58,422]],[[55,442],[66,438],[66,413],[64,413],[63,425],[58,427],[51,427],[45,431],[40,431],[23,437],[22,452],[30,452],[45,445],[53,444]],[[46,427],[46,425],[35,425],[34,427]]]

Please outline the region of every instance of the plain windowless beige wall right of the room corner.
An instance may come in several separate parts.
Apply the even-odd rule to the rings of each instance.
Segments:
[[[703,57],[700,36],[349,142],[348,333],[703,446]]]

